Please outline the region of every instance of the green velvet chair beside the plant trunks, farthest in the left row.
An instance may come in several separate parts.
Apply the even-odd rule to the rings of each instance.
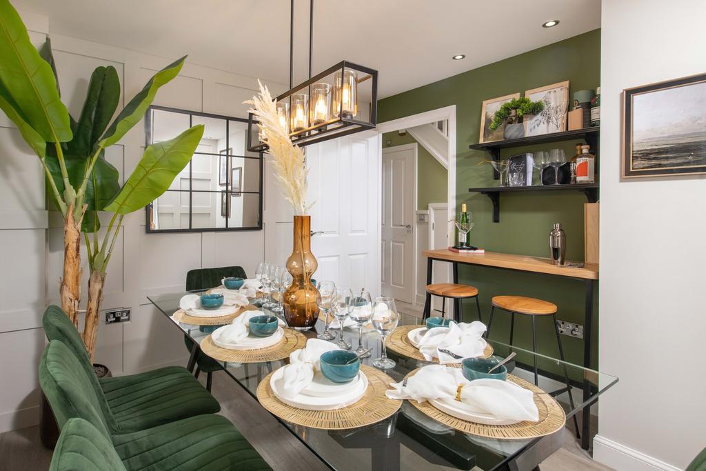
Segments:
[[[113,417],[112,431],[138,431],[220,410],[218,401],[183,366],[99,379],[76,326],[59,306],[47,307],[42,324],[47,338],[66,345],[88,376],[90,388],[104,398],[100,406]]]

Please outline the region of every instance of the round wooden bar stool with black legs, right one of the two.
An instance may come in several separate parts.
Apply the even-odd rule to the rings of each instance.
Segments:
[[[564,350],[561,347],[561,335],[556,327],[556,304],[542,299],[535,299],[524,296],[495,296],[491,302],[490,317],[488,318],[488,330],[486,338],[490,338],[491,323],[493,323],[493,311],[498,308],[510,313],[510,345],[513,345],[513,330],[515,330],[515,314],[530,316],[532,318],[532,352],[537,353],[537,335],[534,327],[534,318],[537,316],[551,316],[551,321],[554,324],[554,333],[556,333],[556,343],[559,346],[559,358],[564,361]],[[574,408],[573,395],[571,394],[571,386],[569,383],[568,371],[566,364],[563,364],[564,379],[566,380],[566,388],[556,390],[551,395],[559,395],[565,390],[569,393],[569,403],[571,409]],[[534,385],[538,386],[539,375],[537,374],[537,356],[534,357]],[[578,420],[576,415],[573,416],[574,426],[576,427],[576,436],[580,438],[578,431]]]

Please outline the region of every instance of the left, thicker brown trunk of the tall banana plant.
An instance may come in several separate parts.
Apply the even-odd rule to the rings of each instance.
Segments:
[[[78,328],[78,303],[81,286],[81,219],[73,219],[73,206],[64,220],[64,278],[61,278],[61,309]]]

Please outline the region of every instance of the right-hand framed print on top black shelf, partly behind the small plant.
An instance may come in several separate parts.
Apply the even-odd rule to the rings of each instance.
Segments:
[[[540,136],[566,131],[569,81],[527,90],[525,97],[533,102],[544,102],[544,109],[541,113],[534,117],[525,117],[525,136]]]

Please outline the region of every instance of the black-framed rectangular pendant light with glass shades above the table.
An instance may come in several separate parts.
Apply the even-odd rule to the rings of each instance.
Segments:
[[[378,71],[340,61],[311,75],[313,0],[309,0],[309,80],[293,87],[294,0],[289,10],[289,90],[277,101],[277,116],[292,143],[299,146],[372,129],[377,124]],[[253,114],[248,119],[248,150],[267,152]]]

